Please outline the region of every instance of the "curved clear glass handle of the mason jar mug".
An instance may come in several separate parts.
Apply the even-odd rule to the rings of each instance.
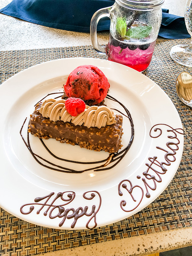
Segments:
[[[91,23],[90,23],[90,35],[91,35],[91,42],[92,46],[95,49],[96,52],[105,54],[105,47],[101,46],[97,39],[97,24],[99,20],[103,17],[109,17],[110,18],[110,10],[112,6],[102,8],[95,12],[92,16]]]

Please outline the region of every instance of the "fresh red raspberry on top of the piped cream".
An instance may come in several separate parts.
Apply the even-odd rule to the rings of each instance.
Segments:
[[[77,116],[85,110],[85,103],[79,98],[70,97],[65,101],[65,107],[71,116]]]

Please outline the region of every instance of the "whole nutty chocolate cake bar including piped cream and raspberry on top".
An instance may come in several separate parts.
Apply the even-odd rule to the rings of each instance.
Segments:
[[[87,106],[76,98],[49,99],[36,105],[28,132],[43,139],[95,151],[115,153],[121,147],[123,117],[106,106]]]

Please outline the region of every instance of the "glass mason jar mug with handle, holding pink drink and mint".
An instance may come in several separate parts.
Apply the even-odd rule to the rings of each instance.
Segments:
[[[164,0],[115,0],[113,6],[95,12],[90,24],[92,46],[108,60],[142,72],[151,61],[162,19]],[[97,24],[110,18],[109,42],[97,40]]]

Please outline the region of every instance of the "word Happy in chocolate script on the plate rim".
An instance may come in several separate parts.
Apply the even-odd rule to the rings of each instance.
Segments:
[[[83,216],[90,217],[86,223],[86,228],[95,228],[97,226],[96,214],[101,206],[101,196],[98,191],[87,191],[83,194],[83,198],[86,200],[93,200],[93,198],[96,198],[96,201],[99,201],[97,207],[95,204],[92,204],[92,209],[89,209],[90,207],[88,206],[78,207],[76,210],[74,208],[65,208],[66,205],[70,204],[76,197],[76,194],[73,191],[59,192],[56,196],[54,195],[55,193],[51,192],[49,195],[36,197],[34,199],[35,203],[22,205],[20,207],[20,212],[22,214],[30,214],[35,209],[35,206],[39,206],[40,208],[37,210],[37,214],[44,211],[44,216],[47,216],[48,214],[50,219],[62,219],[59,223],[59,227],[65,223],[66,219],[74,219],[71,224],[71,228],[74,228],[77,220]],[[45,202],[42,203],[44,199]],[[62,204],[60,204],[60,202],[62,202]],[[29,210],[27,206],[30,206]],[[26,211],[26,208],[28,211]],[[92,226],[90,226],[91,222]]]

